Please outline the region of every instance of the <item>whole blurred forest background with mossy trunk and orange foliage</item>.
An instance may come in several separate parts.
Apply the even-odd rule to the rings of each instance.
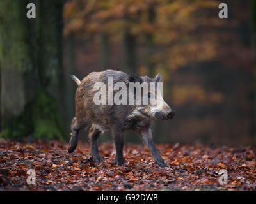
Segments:
[[[68,140],[68,76],[116,69],[163,76],[176,115],[154,122],[155,142],[255,145],[255,26],[253,0],[1,0],[0,137]]]

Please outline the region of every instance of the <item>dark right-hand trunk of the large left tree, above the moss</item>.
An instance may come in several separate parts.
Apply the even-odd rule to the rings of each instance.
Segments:
[[[62,11],[63,3],[38,1],[38,66],[42,86],[49,93],[62,99]]]

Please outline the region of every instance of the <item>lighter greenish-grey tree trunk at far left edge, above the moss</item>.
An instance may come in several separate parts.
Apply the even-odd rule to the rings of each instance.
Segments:
[[[26,1],[0,2],[1,115],[4,124],[24,110],[27,101],[25,74],[32,69]]]

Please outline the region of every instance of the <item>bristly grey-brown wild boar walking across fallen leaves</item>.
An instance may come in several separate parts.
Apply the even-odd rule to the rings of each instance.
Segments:
[[[132,129],[140,134],[143,143],[145,143],[150,150],[155,163],[161,167],[166,166],[164,159],[160,156],[154,145],[152,131],[150,129],[150,124],[153,119],[168,120],[172,119],[175,115],[175,112],[165,103],[162,97],[157,98],[158,101],[161,101],[161,110],[159,111],[156,111],[156,107],[151,103],[109,104],[109,99],[111,99],[109,97],[106,99],[106,104],[95,104],[95,94],[99,91],[99,89],[95,90],[95,84],[99,82],[103,83],[108,89],[109,78],[113,79],[113,85],[116,85],[118,82],[123,82],[126,85],[124,89],[127,89],[125,90],[127,92],[131,91],[129,87],[131,83],[148,84],[148,87],[150,84],[153,84],[156,89],[153,89],[153,91],[151,89],[149,89],[149,91],[143,89],[141,96],[148,96],[149,98],[152,96],[152,98],[155,98],[156,94],[159,93],[157,82],[161,82],[161,75],[159,73],[155,78],[150,78],[147,76],[128,75],[121,71],[106,70],[102,72],[92,72],[84,77],[81,82],[74,75],[70,77],[76,82],[78,87],[76,91],[76,117],[72,119],[72,133],[68,145],[69,153],[72,153],[76,149],[79,130],[90,127],[88,136],[90,139],[91,154],[93,160],[96,163],[100,163],[101,159],[97,139],[100,133],[111,131],[116,149],[115,163],[121,166],[124,164],[124,131]],[[134,87],[132,91],[135,91]],[[109,92],[108,89],[107,95]],[[117,91],[113,90],[113,92],[116,93]],[[127,96],[127,98],[129,98],[129,96]],[[143,101],[144,100],[145,98],[143,98]]]

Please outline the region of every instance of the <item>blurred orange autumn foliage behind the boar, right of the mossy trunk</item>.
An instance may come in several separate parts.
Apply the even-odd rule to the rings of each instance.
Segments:
[[[106,69],[161,73],[164,100],[177,117],[156,122],[156,142],[255,144],[252,7],[227,0],[228,19],[220,19],[220,3],[67,1],[64,67],[80,78]]]

